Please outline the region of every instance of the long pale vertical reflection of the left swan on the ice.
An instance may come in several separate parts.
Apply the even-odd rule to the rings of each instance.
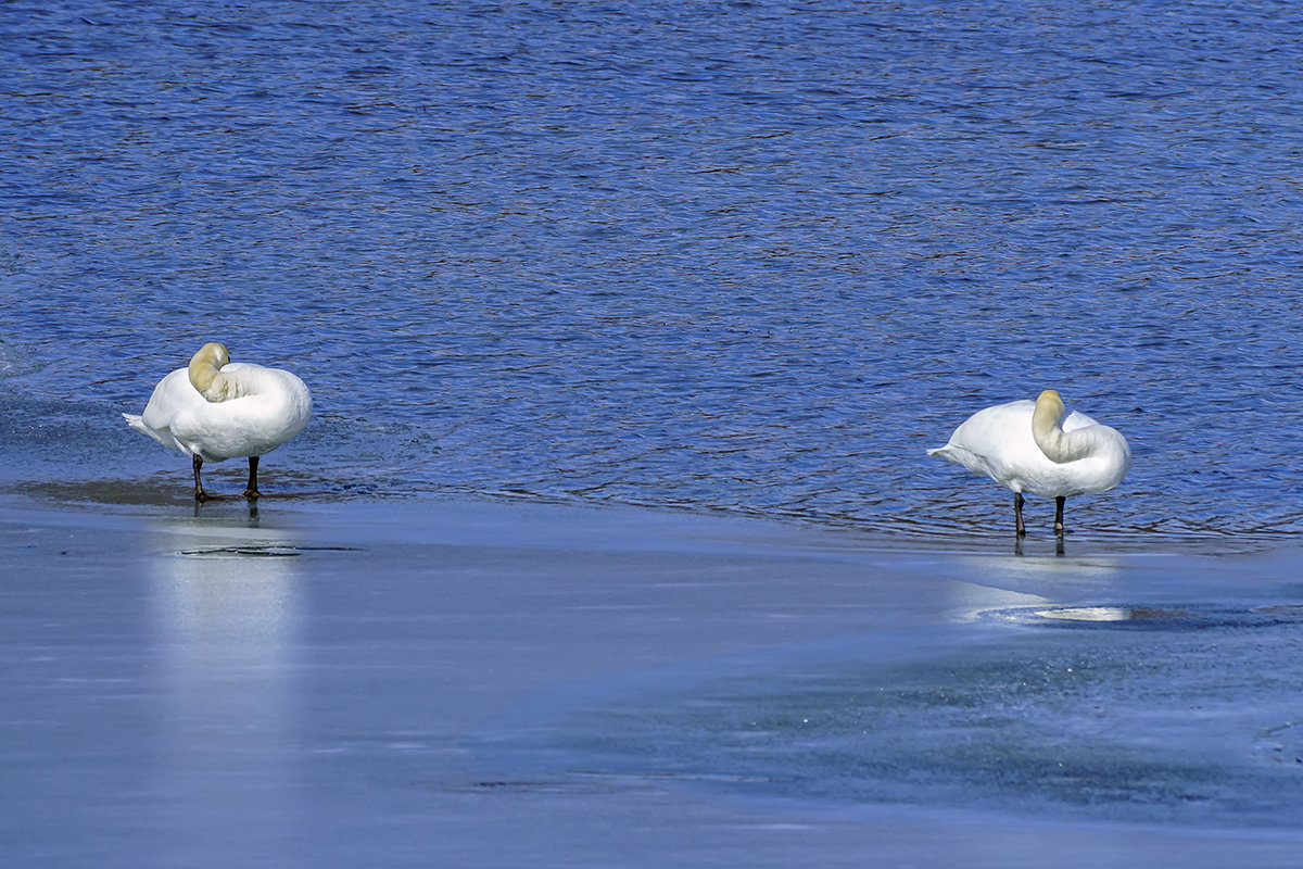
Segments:
[[[296,550],[280,533],[244,526],[177,522],[158,532],[169,827],[180,851],[203,848],[240,865],[288,835]]]

